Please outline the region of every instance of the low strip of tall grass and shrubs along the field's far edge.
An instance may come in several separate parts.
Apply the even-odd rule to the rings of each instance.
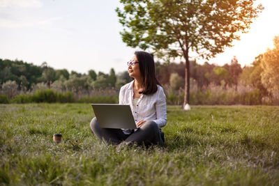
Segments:
[[[3,92],[3,91],[2,91]],[[9,92],[9,91],[4,91]],[[61,91],[59,88],[53,89],[45,87],[45,84],[38,86],[33,91],[18,91],[14,96],[0,94],[0,103],[28,103],[28,102],[86,102],[86,103],[117,103],[119,90],[114,87],[107,88],[89,88],[88,90],[78,88],[70,91]],[[184,90],[172,90],[165,86],[167,104],[182,105],[184,100]],[[265,96],[256,88],[239,86],[224,87],[209,85],[206,88],[198,88],[193,84],[190,91],[190,104],[207,105],[279,105],[278,96]]]

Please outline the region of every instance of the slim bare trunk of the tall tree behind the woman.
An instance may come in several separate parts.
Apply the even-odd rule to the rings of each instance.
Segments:
[[[185,93],[184,93],[183,109],[186,108],[185,106],[186,104],[189,104],[189,100],[190,100],[190,61],[188,56],[188,50],[184,52],[184,57],[186,59],[186,68],[185,68]]]

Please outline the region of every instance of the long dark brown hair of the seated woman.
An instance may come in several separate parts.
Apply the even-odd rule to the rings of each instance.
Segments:
[[[143,78],[143,87],[144,90],[140,93],[145,95],[156,93],[157,84],[160,85],[155,76],[155,63],[153,56],[148,52],[137,51],[135,52],[135,56],[137,57],[137,61],[140,65],[140,73]]]

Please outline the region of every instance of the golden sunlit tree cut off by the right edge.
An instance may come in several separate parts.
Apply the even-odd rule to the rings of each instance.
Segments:
[[[273,39],[273,49],[267,49],[262,59],[262,84],[269,93],[279,96],[279,35]]]

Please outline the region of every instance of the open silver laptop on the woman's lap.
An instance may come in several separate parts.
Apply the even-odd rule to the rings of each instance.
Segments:
[[[129,104],[91,104],[100,127],[136,129]]]

